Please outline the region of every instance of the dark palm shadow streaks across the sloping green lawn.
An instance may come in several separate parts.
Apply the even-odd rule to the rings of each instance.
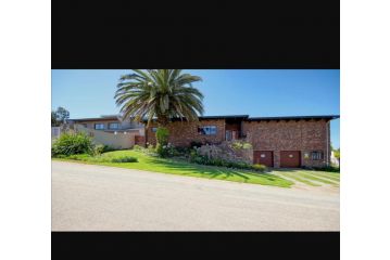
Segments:
[[[204,166],[204,165],[197,165],[197,164],[190,164],[187,161],[177,161],[177,160],[167,160],[167,159],[158,159],[158,158],[151,158],[148,160],[150,164],[163,166],[165,168],[168,168],[171,170],[181,170],[183,174],[191,176],[193,173],[201,174],[202,177],[206,177],[210,179],[228,179],[228,178],[238,178],[241,179],[242,182],[248,182],[248,180],[262,178],[271,182],[285,180],[282,178],[279,178],[277,176],[272,176],[269,173],[255,173],[247,170],[236,170],[231,168],[223,168],[223,167],[216,167],[216,166]]]

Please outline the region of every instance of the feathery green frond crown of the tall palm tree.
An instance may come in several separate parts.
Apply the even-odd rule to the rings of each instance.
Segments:
[[[156,118],[159,127],[165,127],[172,118],[190,121],[203,114],[203,94],[192,87],[200,77],[181,69],[133,70],[121,77],[115,93],[123,118],[148,119],[147,127]]]

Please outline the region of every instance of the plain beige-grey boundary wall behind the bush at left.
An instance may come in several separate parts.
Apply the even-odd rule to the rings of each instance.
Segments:
[[[87,133],[93,139],[93,142],[98,144],[109,145],[114,148],[133,147],[135,144],[135,135],[138,134],[138,132],[127,132],[126,134],[123,132],[117,132],[117,134],[114,134],[113,132],[104,132],[101,130],[85,128],[79,123],[75,123],[74,129],[76,131]]]

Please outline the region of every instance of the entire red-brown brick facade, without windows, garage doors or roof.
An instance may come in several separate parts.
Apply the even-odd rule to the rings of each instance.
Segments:
[[[214,135],[198,132],[198,127],[216,126]],[[151,126],[147,131],[147,142],[155,145],[155,132]],[[189,146],[192,141],[221,143],[225,141],[225,130],[237,129],[237,125],[226,123],[225,119],[202,119],[198,122],[174,121],[167,128],[169,142],[175,146]],[[280,152],[300,153],[300,166],[324,167],[330,161],[330,130],[327,119],[300,120],[242,120],[240,130],[255,151],[272,151],[274,167],[280,167]],[[313,152],[322,157],[314,158]],[[253,160],[253,157],[251,158]]]

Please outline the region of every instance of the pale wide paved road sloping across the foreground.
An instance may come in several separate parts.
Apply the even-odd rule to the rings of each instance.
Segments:
[[[339,194],[52,161],[53,231],[339,231]]]

